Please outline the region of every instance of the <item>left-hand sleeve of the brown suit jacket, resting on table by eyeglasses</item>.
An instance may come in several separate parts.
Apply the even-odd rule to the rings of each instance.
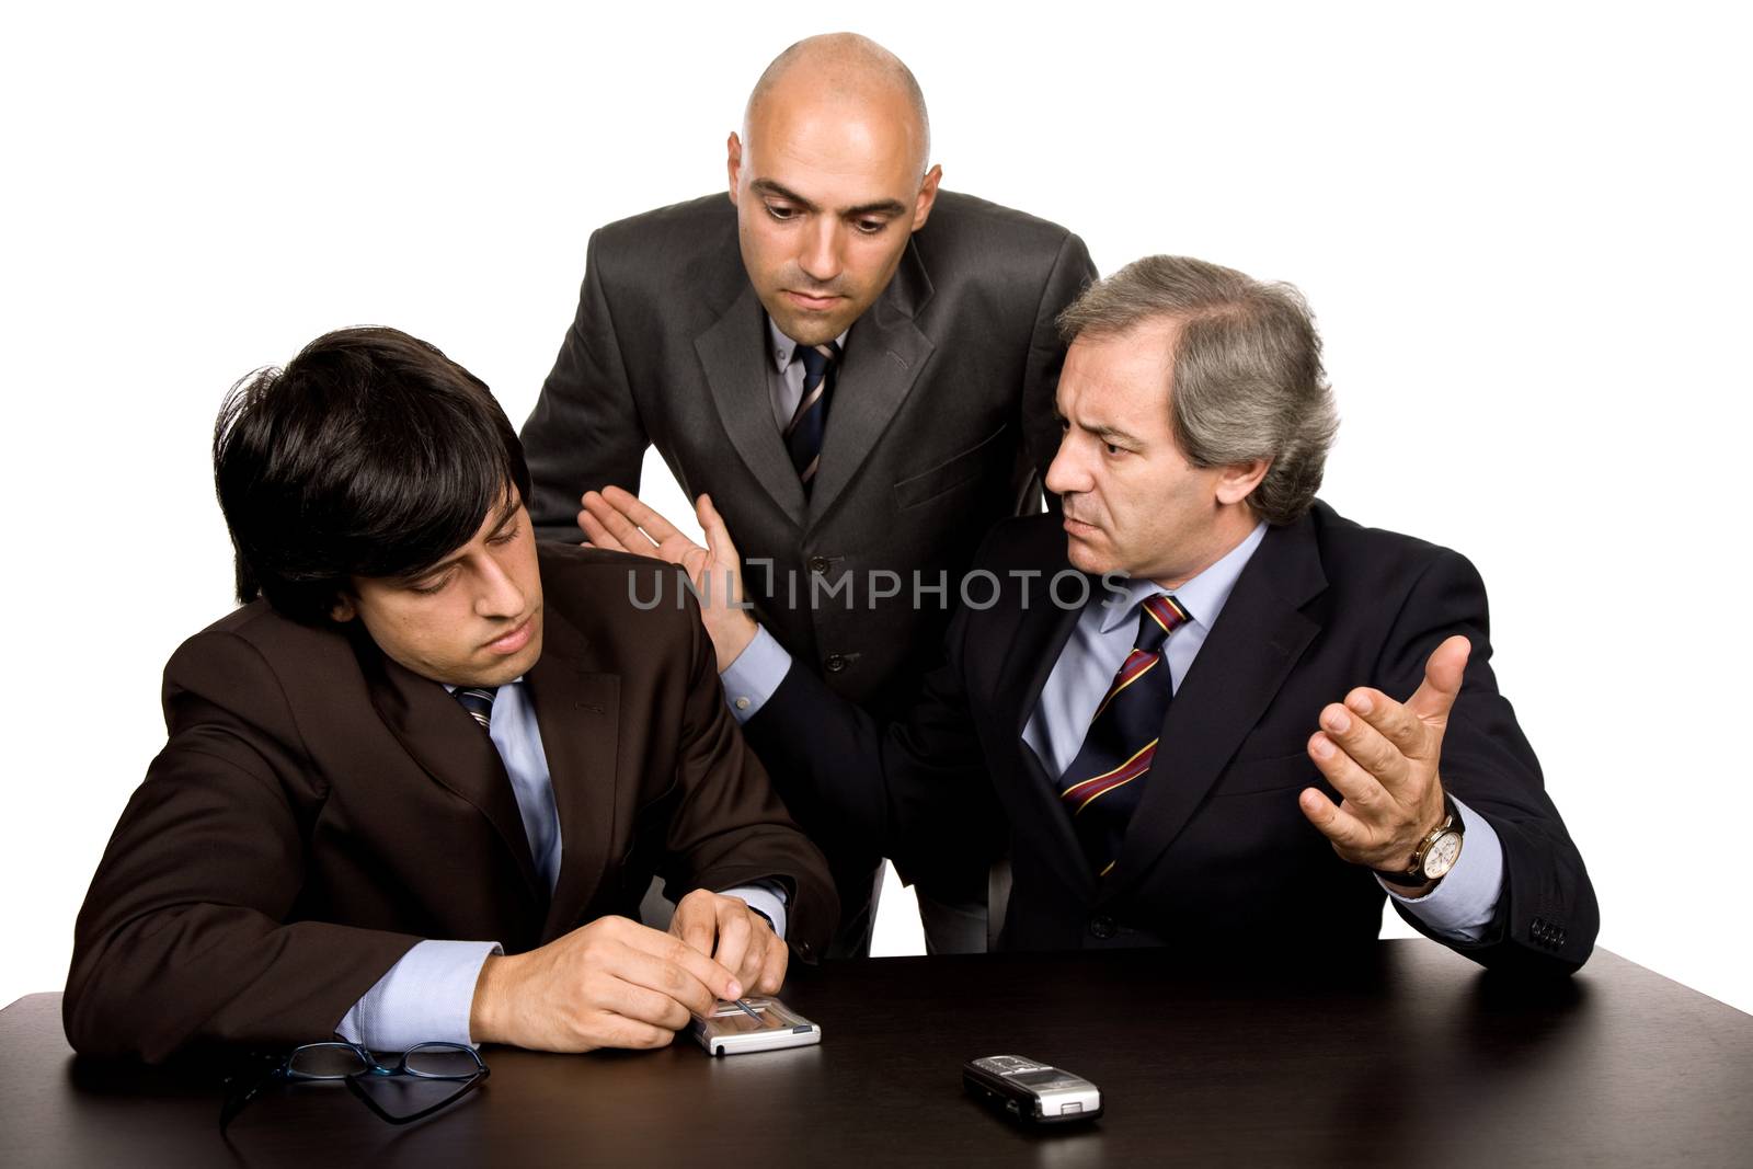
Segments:
[[[419,938],[291,920],[323,792],[254,647],[189,640],[165,668],[165,719],[74,929],[68,1041],[161,1062],[331,1038]]]

